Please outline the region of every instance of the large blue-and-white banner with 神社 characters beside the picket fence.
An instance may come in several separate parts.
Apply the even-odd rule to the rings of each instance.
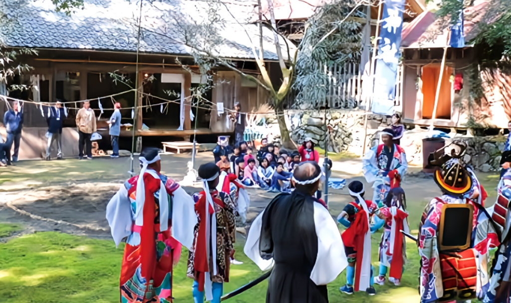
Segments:
[[[405,0],[384,0],[371,111],[393,114]]]

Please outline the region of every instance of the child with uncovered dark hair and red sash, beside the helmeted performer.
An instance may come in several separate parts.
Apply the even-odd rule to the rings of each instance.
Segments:
[[[389,281],[399,286],[406,261],[406,241],[401,230],[410,233],[403,189],[400,187],[391,189],[384,204],[379,211],[385,225],[380,242],[380,272],[375,278],[375,283],[383,285],[387,270],[390,268]]]

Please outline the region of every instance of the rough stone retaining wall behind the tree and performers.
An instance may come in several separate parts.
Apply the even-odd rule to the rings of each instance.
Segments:
[[[324,111],[289,110],[287,117],[291,138],[301,144],[306,137],[311,137],[318,147],[324,148],[326,128],[324,126]],[[364,133],[365,151],[379,144],[379,132],[390,125],[390,119],[383,115],[367,115],[367,131],[364,130],[365,112],[361,110],[330,110],[327,112],[327,124],[331,132],[329,151],[348,152],[357,156],[363,154]],[[280,142],[280,130],[272,114],[266,117],[265,136],[272,142]],[[401,139],[401,147],[406,152],[409,165],[422,167],[423,139],[429,131],[419,126],[408,128]],[[506,137],[485,136],[471,137],[456,133],[450,134],[453,139],[446,139],[446,144],[453,140],[467,143],[468,149],[463,160],[475,170],[488,172],[500,169],[500,155],[504,149]]]

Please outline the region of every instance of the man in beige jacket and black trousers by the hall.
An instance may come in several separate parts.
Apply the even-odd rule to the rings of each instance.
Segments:
[[[90,135],[96,132],[96,114],[90,108],[88,101],[83,102],[83,107],[80,108],[76,114],[76,126],[78,127],[78,134],[80,136],[78,141],[78,149],[80,151],[80,159],[83,159],[83,147],[85,146],[85,154],[87,159],[92,159],[92,142],[90,142]]]

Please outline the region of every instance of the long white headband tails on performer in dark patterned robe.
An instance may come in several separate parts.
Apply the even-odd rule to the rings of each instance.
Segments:
[[[205,213],[205,217],[206,217],[206,258],[208,259],[207,260],[207,265],[208,265],[208,271],[204,273],[204,292],[206,294],[206,301],[211,301],[213,300],[213,285],[212,285],[212,281],[211,281],[211,274],[210,274],[210,270],[209,270],[209,264],[210,264],[210,243],[208,242],[211,242],[211,252],[212,252],[212,258],[213,258],[213,275],[216,275],[217,274],[217,266],[216,266],[216,260],[217,260],[217,237],[215,235],[215,237],[213,237],[212,234],[212,231],[215,232],[216,234],[216,230],[217,230],[217,217],[216,217],[216,212],[215,212],[215,205],[213,203],[213,198],[211,197],[211,193],[210,193],[210,185],[207,183],[208,181],[213,181],[215,180],[216,178],[218,178],[219,174],[216,173],[213,177],[209,178],[209,179],[202,179],[202,188],[204,189],[204,193],[206,194],[206,213]],[[210,209],[209,209],[209,206],[211,205],[211,207],[213,208],[213,216],[212,217],[212,222],[211,222],[211,226],[210,226]]]

